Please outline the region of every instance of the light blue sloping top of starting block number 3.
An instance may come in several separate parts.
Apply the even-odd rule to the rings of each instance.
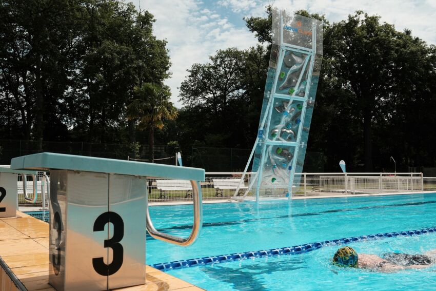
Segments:
[[[205,170],[114,159],[73,156],[61,153],[35,153],[13,158],[11,170],[50,170],[63,169],[99,173],[112,173],[145,177],[165,177],[167,179],[205,181]]]

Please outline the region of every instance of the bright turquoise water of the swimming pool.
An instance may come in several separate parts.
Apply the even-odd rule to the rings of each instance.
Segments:
[[[147,236],[147,264],[294,246],[381,232],[436,227],[436,193],[204,205],[200,238],[189,247]],[[151,206],[156,228],[189,235],[192,205]],[[436,248],[436,234],[349,243],[360,253],[396,250],[422,253]],[[430,267],[381,274],[330,264],[338,246],[301,255],[282,255],[189,267],[169,274],[207,290],[320,290],[337,288],[436,289]]]

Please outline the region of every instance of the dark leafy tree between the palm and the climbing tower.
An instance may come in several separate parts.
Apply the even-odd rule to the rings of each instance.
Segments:
[[[186,107],[179,122],[181,145],[198,141],[213,147],[249,147],[262,106],[268,68],[263,46],[229,48],[194,64],[180,87]]]

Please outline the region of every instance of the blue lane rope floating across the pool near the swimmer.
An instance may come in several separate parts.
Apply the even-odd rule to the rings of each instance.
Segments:
[[[181,260],[181,261],[173,261],[169,263],[158,263],[158,264],[153,264],[153,267],[158,270],[168,271],[168,270],[188,268],[194,266],[211,265],[211,264],[222,263],[222,262],[224,263],[224,262],[246,260],[249,258],[273,257],[273,256],[281,256],[281,255],[299,255],[299,254],[308,253],[309,251],[315,249],[322,248],[324,246],[343,245],[343,244],[348,244],[358,241],[378,240],[378,239],[393,238],[393,237],[417,236],[417,235],[430,234],[432,232],[436,232],[436,227],[418,229],[418,230],[406,230],[406,231],[399,231],[399,232],[385,232],[383,234],[350,237],[350,238],[343,238],[338,240],[315,242],[315,243],[308,243],[308,244],[295,245],[289,247],[246,251],[245,253],[234,253],[230,255],[188,259],[188,260]]]

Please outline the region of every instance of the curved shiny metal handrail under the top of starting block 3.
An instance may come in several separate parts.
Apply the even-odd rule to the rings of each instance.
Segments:
[[[197,237],[200,235],[203,225],[203,200],[202,200],[202,190],[200,183],[197,181],[191,181],[192,185],[192,198],[194,200],[194,223],[192,225],[192,231],[188,238],[179,238],[176,236],[164,234],[163,232],[157,231],[153,223],[151,222],[150,214],[148,211],[148,198],[147,198],[147,230],[151,237],[169,242],[176,245],[188,246],[192,244]],[[147,195],[148,197],[148,195]]]

